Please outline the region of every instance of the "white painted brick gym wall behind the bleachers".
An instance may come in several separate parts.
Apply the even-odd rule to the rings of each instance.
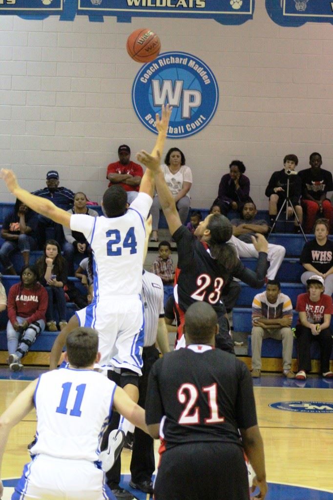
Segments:
[[[127,35],[154,29],[162,50],[202,58],[219,85],[214,118],[180,147],[193,171],[192,206],[207,207],[232,159],[244,161],[251,195],[267,207],[271,172],[295,153],[299,167],[313,150],[332,169],[333,30],[330,24],[298,28],[274,24],[264,0],[252,21],[225,26],[209,19],[113,17],[89,22],[25,20],[0,16],[0,166],[11,166],[24,187],[35,189],[56,168],[61,184],[100,201],[106,165],[117,147],[150,149],[155,135],[138,121],[131,87],[139,64],[125,50]],[[200,33],[196,35],[196,33]],[[0,182],[0,200],[12,200]]]

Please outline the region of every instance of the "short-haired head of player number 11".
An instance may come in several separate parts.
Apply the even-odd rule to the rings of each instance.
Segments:
[[[84,368],[94,364],[98,352],[98,334],[93,328],[78,327],[66,338],[68,361],[72,366]]]

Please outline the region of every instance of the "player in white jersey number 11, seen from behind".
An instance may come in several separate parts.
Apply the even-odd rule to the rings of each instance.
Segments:
[[[93,370],[99,361],[97,332],[76,328],[66,340],[69,366],[39,376],[0,416],[1,461],[9,431],[35,406],[36,440],[12,500],[105,500],[99,453],[112,408],[147,431],[144,410],[114,382]],[[0,497],[3,486],[0,480]]]

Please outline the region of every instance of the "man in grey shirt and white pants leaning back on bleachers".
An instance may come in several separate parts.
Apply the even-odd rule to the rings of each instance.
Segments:
[[[255,208],[255,204],[251,201],[251,202],[247,202],[245,203],[244,207],[246,207],[245,211],[243,211],[243,213],[246,214],[246,217],[248,217],[248,222],[250,220],[253,220],[253,217],[255,216],[256,214],[256,208]],[[211,213],[213,212],[218,212],[218,210],[216,209],[216,205],[212,205],[211,207]],[[233,220],[240,220],[240,219],[233,219]],[[243,223],[243,221],[241,220],[241,222]],[[245,238],[247,238],[247,234],[245,234],[247,231],[253,231],[253,228],[258,228],[258,229],[261,229],[261,232],[262,232],[262,229],[266,229],[266,232],[268,232],[268,225],[265,221],[263,220],[259,220],[258,221],[259,224],[258,224],[258,227],[256,227],[256,220],[255,220],[255,224],[245,224],[245,226],[248,227],[248,229],[244,229],[244,232],[243,232],[243,236],[245,235]],[[232,223],[232,221],[231,221]],[[232,230],[236,230],[237,231],[237,227],[234,226],[232,228]],[[240,232],[240,231],[238,231]],[[257,232],[260,232],[260,231],[257,231]],[[253,232],[252,232],[253,234]],[[248,237],[251,238],[251,234],[248,234]],[[248,258],[248,257],[252,257],[252,258],[258,258],[258,252],[256,251],[254,245],[252,243],[246,243],[245,241],[242,241],[239,236],[236,237],[235,235],[232,234],[231,238],[229,239],[228,243],[232,243],[235,248],[236,248],[236,252],[237,252],[237,256],[240,257],[240,258]],[[282,245],[275,245],[275,244],[272,244],[272,243],[268,243],[268,254],[267,254],[267,260],[269,262],[269,267],[267,269],[267,278],[268,279],[275,279],[275,276],[276,276],[276,273],[282,263],[282,260],[283,260],[283,257],[285,255],[285,248],[284,246]]]

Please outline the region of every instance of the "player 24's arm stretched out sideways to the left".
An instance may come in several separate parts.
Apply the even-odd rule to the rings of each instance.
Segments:
[[[50,200],[35,196],[18,185],[16,176],[12,170],[1,168],[0,176],[5,181],[8,191],[20,199],[29,208],[45,217],[48,217],[58,224],[69,227],[70,214],[62,208],[58,208]]]

